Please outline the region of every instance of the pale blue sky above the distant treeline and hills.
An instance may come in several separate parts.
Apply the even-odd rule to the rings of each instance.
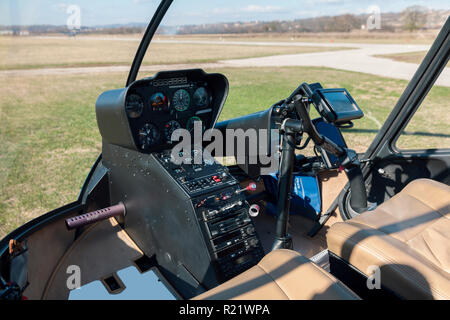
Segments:
[[[0,25],[65,25],[67,8],[77,5],[83,26],[150,21],[159,0],[0,0]],[[344,13],[360,14],[376,5],[399,12],[411,5],[450,9],[445,0],[175,0],[163,25],[234,21],[293,20]]]

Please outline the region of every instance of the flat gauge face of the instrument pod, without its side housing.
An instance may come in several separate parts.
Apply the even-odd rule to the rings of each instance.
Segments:
[[[214,75],[214,74],[213,74]],[[180,128],[193,134],[194,124],[211,128],[228,90],[226,81],[202,70],[160,73],[133,83],[125,98],[125,111],[136,148],[153,152],[169,148],[172,133]]]

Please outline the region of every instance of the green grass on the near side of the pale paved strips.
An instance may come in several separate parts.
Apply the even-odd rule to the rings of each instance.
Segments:
[[[303,81],[347,88],[366,116],[344,135],[364,151],[407,82],[325,68],[230,68],[221,119],[268,108]],[[51,209],[76,199],[101,147],[95,120],[97,96],[121,87],[126,74],[47,75],[0,78],[0,237]],[[408,135],[405,147],[450,147],[450,89],[437,87],[408,130],[446,136]],[[433,110],[434,112],[429,112]]]

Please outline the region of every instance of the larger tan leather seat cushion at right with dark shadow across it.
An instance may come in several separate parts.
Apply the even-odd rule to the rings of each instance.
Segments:
[[[450,187],[409,183],[374,211],[334,224],[328,249],[405,299],[450,299]]]

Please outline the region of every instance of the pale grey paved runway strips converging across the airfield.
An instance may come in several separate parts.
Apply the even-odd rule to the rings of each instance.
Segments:
[[[83,41],[139,41],[137,38],[112,37],[79,37]],[[304,47],[340,47],[348,48],[339,51],[315,53],[287,54],[259,58],[221,60],[216,63],[154,65],[142,67],[142,71],[158,71],[168,69],[184,69],[199,67],[205,69],[221,67],[281,67],[281,66],[314,66],[341,70],[363,72],[377,76],[410,80],[418,68],[418,64],[394,61],[375,57],[375,55],[427,51],[429,45],[404,44],[367,44],[367,43],[317,43],[317,42],[277,42],[277,41],[212,41],[212,40],[153,40],[155,43],[186,43],[211,45],[248,45],[248,46],[304,46]],[[44,68],[31,70],[0,71],[0,75],[48,75],[48,74],[79,74],[127,72],[129,66],[81,67],[81,68]],[[446,68],[436,84],[450,87],[450,68]]]

